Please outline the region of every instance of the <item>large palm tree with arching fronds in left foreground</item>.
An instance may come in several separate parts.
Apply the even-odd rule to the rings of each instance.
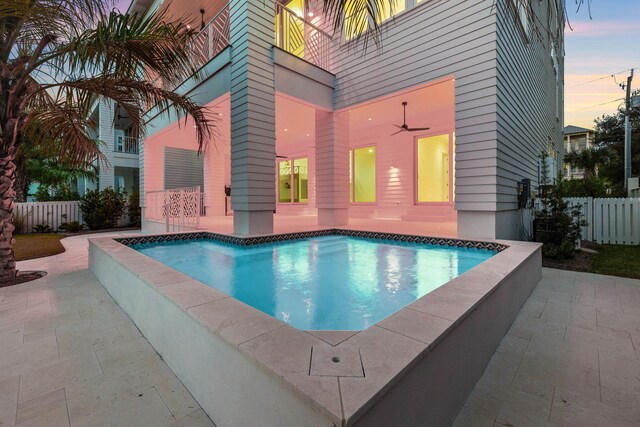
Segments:
[[[60,156],[72,164],[103,159],[91,138],[97,124],[89,112],[96,99],[124,108],[134,132],[144,131],[141,112],[156,106],[190,116],[201,149],[211,137],[206,109],[165,89],[196,71],[189,27],[168,22],[162,13],[109,11],[108,1],[0,1],[0,286],[17,273],[14,160],[25,144],[56,141]]]

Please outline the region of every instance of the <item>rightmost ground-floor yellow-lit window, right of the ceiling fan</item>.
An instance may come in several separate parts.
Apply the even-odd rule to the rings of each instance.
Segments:
[[[449,135],[418,139],[418,203],[449,201]]]

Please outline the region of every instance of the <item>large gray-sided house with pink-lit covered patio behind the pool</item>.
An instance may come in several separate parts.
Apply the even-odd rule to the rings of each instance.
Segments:
[[[204,23],[202,69],[177,90],[219,118],[198,157],[191,125],[150,110],[141,190],[200,185],[207,215],[224,215],[230,185],[241,235],[272,232],[277,211],[521,238],[518,182],[534,190],[540,153],[563,149],[563,2],[393,4],[382,45],[363,51],[362,34],[333,34],[320,0],[134,0],[130,12]],[[400,131],[404,102],[408,127],[428,129]]]

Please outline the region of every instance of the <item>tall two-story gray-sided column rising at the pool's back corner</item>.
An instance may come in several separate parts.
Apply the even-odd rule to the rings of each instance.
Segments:
[[[235,234],[273,232],[275,88],[273,2],[232,0],[231,199]]]

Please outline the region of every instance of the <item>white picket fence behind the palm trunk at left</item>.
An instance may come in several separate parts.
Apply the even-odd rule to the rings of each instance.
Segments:
[[[16,203],[14,216],[22,222],[22,233],[33,233],[33,227],[47,224],[57,230],[63,222],[78,221],[83,224],[80,202],[28,202]]]

